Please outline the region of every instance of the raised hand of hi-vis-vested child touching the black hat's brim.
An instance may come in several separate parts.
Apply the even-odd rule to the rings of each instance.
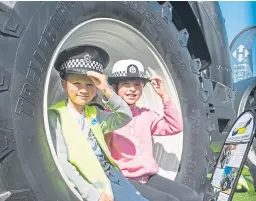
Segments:
[[[94,85],[101,91],[104,96],[106,96],[106,98],[109,99],[112,97],[114,92],[110,88],[105,75],[95,71],[88,71],[86,75],[92,79]]]

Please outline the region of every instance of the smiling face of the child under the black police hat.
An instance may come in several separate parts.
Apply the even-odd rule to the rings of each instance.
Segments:
[[[88,104],[97,92],[93,81],[86,75],[70,74],[62,81],[62,86],[69,99],[77,106]]]

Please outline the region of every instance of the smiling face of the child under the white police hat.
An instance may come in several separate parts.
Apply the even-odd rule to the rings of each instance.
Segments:
[[[118,83],[118,95],[128,104],[134,105],[141,97],[144,83],[141,80],[126,80]]]

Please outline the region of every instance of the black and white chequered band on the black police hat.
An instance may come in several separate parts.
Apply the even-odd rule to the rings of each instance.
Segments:
[[[90,60],[85,61],[84,59],[69,59],[61,64],[60,71],[69,70],[72,68],[84,68],[96,70],[103,73],[103,65],[97,61]]]

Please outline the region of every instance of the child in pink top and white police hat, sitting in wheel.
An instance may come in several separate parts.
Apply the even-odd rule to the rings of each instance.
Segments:
[[[106,138],[111,154],[125,177],[149,200],[200,201],[192,189],[157,175],[158,165],[153,158],[152,135],[174,135],[182,131],[181,114],[168,97],[161,77],[146,78],[144,67],[136,60],[121,60],[114,64],[108,78],[116,93],[130,106],[133,119]],[[150,82],[161,97],[164,116],[136,102]]]

